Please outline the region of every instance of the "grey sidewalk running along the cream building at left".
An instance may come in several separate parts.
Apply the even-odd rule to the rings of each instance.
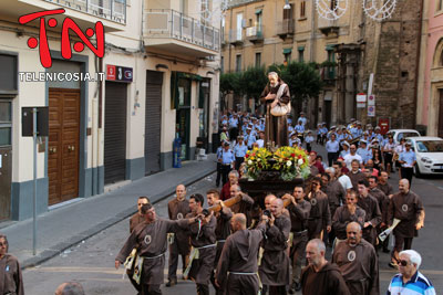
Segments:
[[[215,155],[205,161],[184,162],[113,191],[63,206],[38,217],[37,255],[32,255],[32,219],[0,229],[8,236],[10,253],[21,266],[40,264],[102,230],[132,215],[136,200],[147,196],[155,203],[175,192],[178,183],[188,186],[216,170]]]

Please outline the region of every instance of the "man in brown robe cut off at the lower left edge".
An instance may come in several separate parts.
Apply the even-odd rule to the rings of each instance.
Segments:
[[[0,294],[23,295],[23,278],[16,256],[8,254],[9,244],[4,234],[0,234]]]

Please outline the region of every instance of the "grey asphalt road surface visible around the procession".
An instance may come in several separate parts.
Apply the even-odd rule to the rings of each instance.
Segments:
[[[398,179],[393,177],[391,183],[396,182]],[[204,193],[213,183],[214,175],[192,186],[188,194]],[[414,239],[413,247],[422,254],[422,272],[433,282],[439,294],[443,289],[443,256],[437,254],[443,245],[443,179],[414,179],[412,189],[422,197],[426,209],[425,228]],[[156,204],[161,217],[166,217],[166,204],[167,200]],[[128,221],[124,220],[47,263],[25,270],[23,277],[27,293],[51,294],[60,283],[75,280],[85,286],[86,294],[134,294],[127,278],[122,280],[123,268],[116,271],[113,267],[114,257],[127,238],[127,232]],[[380,253],[381,294],[385,293],[390,278],[395,274],[395,271],[388,267],[388,262],[389,254]],[[179,281],[178,286],[163,287],[163,292],[195,294],[195,286],[189,281]]]

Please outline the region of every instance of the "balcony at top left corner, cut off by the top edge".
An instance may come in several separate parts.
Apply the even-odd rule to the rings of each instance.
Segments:
[[[60,8],[65,12],[54,15],[59,22],[69,17],[83,30],[93,28],[97,21],[103,23],[106,32],[125,29],[126,0],[1,0],[0,17],[17,21],[24,14]],[[58,29],[61,30],[61,25]]]

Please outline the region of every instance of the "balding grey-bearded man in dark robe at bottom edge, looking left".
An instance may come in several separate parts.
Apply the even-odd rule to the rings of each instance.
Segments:
[[[303,295],[350,295],[348,286],[336,264],[324,259],[326,246],[320,239],[313,239],[306,246],[309,265],[301,272]]]

